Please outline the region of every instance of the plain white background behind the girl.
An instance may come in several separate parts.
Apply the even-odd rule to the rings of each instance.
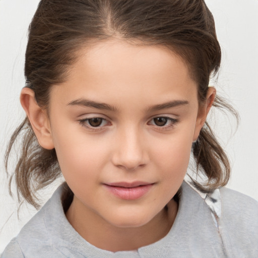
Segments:
[[[232,164],[228,187],[258,200],[258,1],[206,2],[215,17],[223,55],[219,81],[214,85],[241,117],[235,132],[232,118],[213,116]],[[20,221],[17,219],[17,205],[8,194],[3,160],[10,134],[24,117],[19,93],[25,85],[27,28],[37,4],[37,0],[0,0],[0,253],[35,213],[24,206]],[[44,201],[54,188],[44,192]]]

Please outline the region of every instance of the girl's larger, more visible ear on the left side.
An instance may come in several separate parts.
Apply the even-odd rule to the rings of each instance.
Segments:
[[[34,96],[33,90],[23,88],[20,101],[30,120],[39,145],[44,149],[51,150],[54,148],[54,144],[51,136],[50,122],[46,110],[39,107]]]

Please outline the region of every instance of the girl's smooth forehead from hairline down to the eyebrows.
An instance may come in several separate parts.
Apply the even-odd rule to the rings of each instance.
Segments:
[[[170,101],[197,96],[185,62],[173,51],[122,40],[81,48],[68,80],[53,88],[69,100],[85,97],[107,103],[118,98]]]

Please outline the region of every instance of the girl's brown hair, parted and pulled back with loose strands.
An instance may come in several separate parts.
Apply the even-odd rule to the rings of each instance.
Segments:
[[[213,16],[203,0],[41,0],[29,27],[25,56],[25,87],[34,91],[37,104],[47,110],[51,85],[66,81],[78,50],[110,38],[170,48],[185,61],[197,82],[200,104],[206,99],[210,77],[219,71],[221,49]],[[237,117],[218,96],[213,105]],[[21,153],[9,187],[15,177],[18,198],[38,208],[37,190],[53,182],[61,171],[55,150],[38,144],[28,118],[11,138],[7,170],[19,137]],[[200,190],[212,191],[228,182],[229,160],[208,122],[193,143],[192,154],[196,172],[207,178],[205,183],[192,179]]]

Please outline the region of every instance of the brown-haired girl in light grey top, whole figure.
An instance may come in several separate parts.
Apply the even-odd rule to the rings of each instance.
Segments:
[[[42,0],[30,25],[18,192],[66,180],[3,257],[257,257],[258,205],[224,188],[206,122],[230,109],[202,0]],[[184,181],[190,154],[207,180]]]

